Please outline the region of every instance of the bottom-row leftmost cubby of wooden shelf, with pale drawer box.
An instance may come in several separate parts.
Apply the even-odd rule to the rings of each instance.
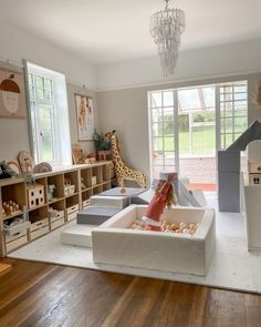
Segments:
[[[22,216],[20,217],[22,218]],[[21,222],[17,225],[13,225],[12,227],[4,227],[4,243],[7,253],[10,253],[28,243],[27,228],[29,225],[29,222]]]

